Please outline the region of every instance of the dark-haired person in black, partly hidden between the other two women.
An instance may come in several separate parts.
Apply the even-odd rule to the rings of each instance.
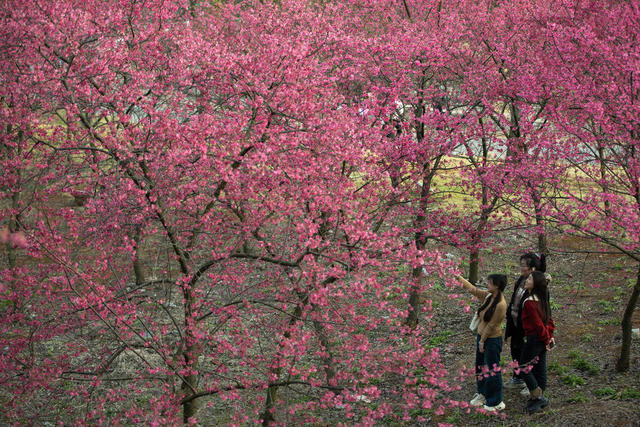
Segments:
[[[511,358],[518,364],[521,363],[520,355],[524,345],[524,330],[522,329],[522,304],[524,304],[526,291],[524,282],[533,271],[544,273],[547,270],[547,260],[544,254],[538,255],[533,252],[527,252],[520,257],[520,277],[516,280],[511,294],[511,301],[507,306],[506,329],[504,338],[511,349]],[[521,394],[529,395],[529,390],[525,387],[524,380],[518,373],[504,383],[505,388],[521,388]]]

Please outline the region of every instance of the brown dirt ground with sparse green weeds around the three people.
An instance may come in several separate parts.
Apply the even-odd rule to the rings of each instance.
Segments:
[[[505,243],[509,243],[508,241]],[[557,346],[547,358],[548,388],[545,395],[551,404],[544,411],[524,413],[526,397],[520,390],[505,389],[506,409],[503,417],[487,417],[462,410],[449,411],[431,423],[453,425],[508,426],[640,426],[640,336],[632,340],[631,366],[626,373],[615,371],[621,345],[620,319],[635,283],[637,265],[626,257],[585,253],[586,242],[556,238],[548,258],[552,312],[556,324]],[[533,247],[533,245],[532,245]],[[505,292],[511,297],[519,276],[518,259],[522,250],[502,254],[484,253],[480,277],[488,273],[505,273],[509,284]],[[446,339],[441,345],[445,363],[455,371],[473,366],[474,334],[469,331],[471,314],[465,314],[452,291],[436,286],[430,291],[435,313],[431,337]],[[472,303],[472,307],[476,303]],[[640,327],[640,310],[635,310],[633,328]],[[509,348],[502,351],[510,362]],[[505,380],[510,374],[505,375]],[[474,379],[463,385],[460,400],[475,393]]]

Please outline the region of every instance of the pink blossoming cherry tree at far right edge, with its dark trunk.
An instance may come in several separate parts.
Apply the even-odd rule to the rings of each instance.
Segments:
[[[565,181],[571,190],[562,191],[566,200],[555,203],[553,216],[565,230],[637,263],[640,9],[626,1],[559,1],[554,10],[559,13],[538,17],[536,34],[548,41],[544,69],[565,101],[553,119],[565,133],[561,147],[573,174]],[[631,317],[639,295],[640,275],[622,315],[619,371],[629,368]]]

